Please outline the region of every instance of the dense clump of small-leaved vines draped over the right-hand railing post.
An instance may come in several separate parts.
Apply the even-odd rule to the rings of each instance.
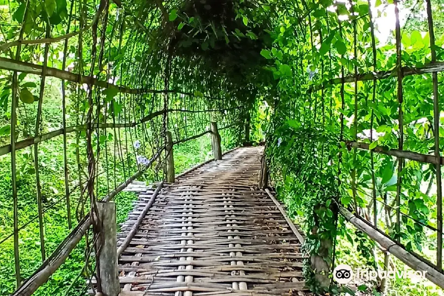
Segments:
[[[337,232],[338,139],[333,130],[322,126],[308,126],[285,117],[274,120],[272,124],[277,128],[267,139],[267,153],[272,164],[270,171],[279,176],[275,180],[276,190],[285,198],[291,215],[306,218],[304,249],[309,255],[317,255],[321,241],[331,240]],[[328,258],[332,258],[332,250],[328,252]],[[309,262],[304,267],[307,285],[313,292],[321,293],[308,265]]]

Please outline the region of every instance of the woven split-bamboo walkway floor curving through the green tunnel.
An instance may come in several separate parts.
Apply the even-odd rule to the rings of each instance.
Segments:
[[[258,189],[262,150],[235,149],[155,198],[154,189],[131,185],[139,199],[118,244],[151,205],[119,257],[120,296],[304,295],[303,238]]]

